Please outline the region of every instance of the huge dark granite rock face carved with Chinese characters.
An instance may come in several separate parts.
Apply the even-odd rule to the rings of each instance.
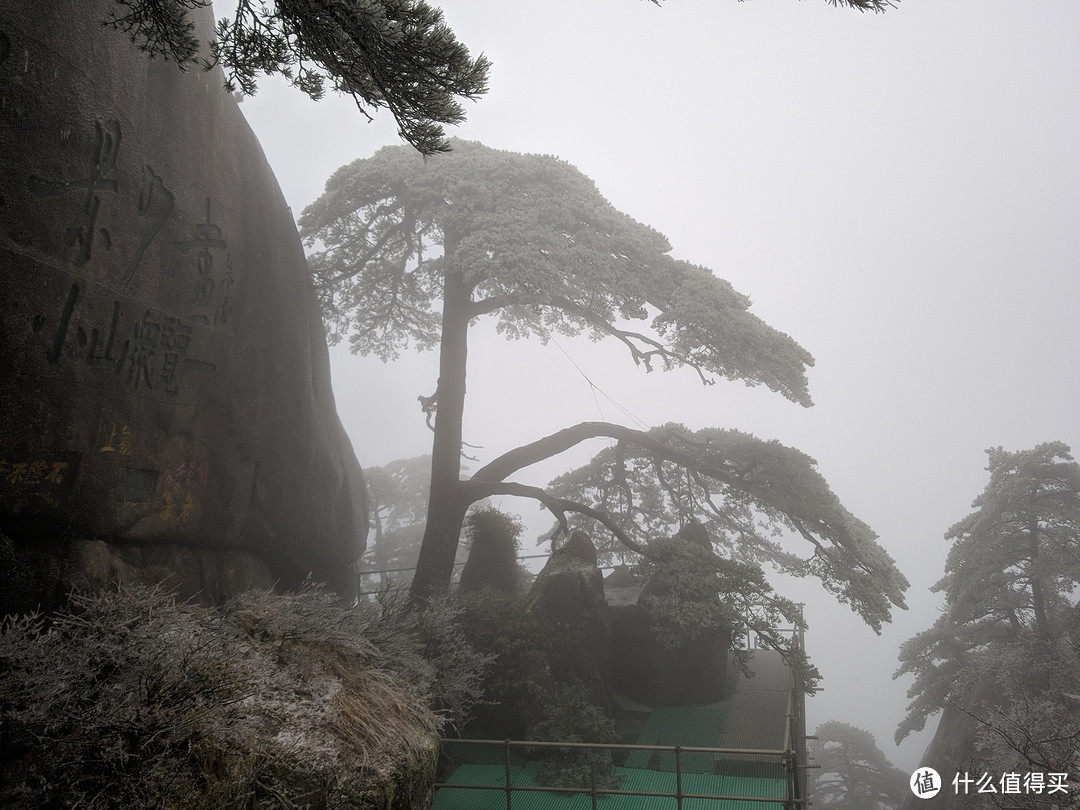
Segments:
[[[111,5],[0,5],[0,531],[46,602],[350,593],[366,497],[292,214],[219,71]]]

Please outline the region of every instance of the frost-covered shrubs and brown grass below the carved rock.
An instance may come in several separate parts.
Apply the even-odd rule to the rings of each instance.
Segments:
[[[122,588],[9,618],[0,806],[383,807],[433,765],[437,673],[478,661],[424,658],[440,633],[319,588],[217,609]]]

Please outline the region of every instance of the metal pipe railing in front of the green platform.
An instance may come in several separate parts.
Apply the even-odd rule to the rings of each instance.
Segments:
[[[676,807],[681,810],[684,799],[712,799],[715,801],[757,801],[783,805],[785,810],[797,810],[806,805],[806,799],[799,789],[799,768],[798,758],[791,747],[791,740],[794,724],[792,713],[792,700],[788,699],[788,724],[784,734],[784,748],[716,748],[691,745],[621,745],[617,743],[578,743],[578,742],[548,742],[548,741],[525,741],[525,740],[442,740],[445,746],[453,745],[498,745],[503,748],[503,765],[505,779],[502,784],[474,784],[458,782],[436,782],[435,789],[473,789],[473,791],[500,791],[507,796],[507,810],[513,810],[513,795],[515,793],[559,793],[559,794],[588,794],[592,798],[593,810],[597,808],[597,799],[602,796],[646,796],[651,798],[675,799]],[[667,752],[675,755],[675,791],[623,791],[609,787],[598,787],[596,782],[596,766],[591,768],[590,786],[585,787],[558,787],[544,785],[515,785],[512,783],[511,750],[522,748],[578,748],[592,751],[651,751]],[[783,767],[786,783],[784,796],[735,796],[725,794],[703,794],[686,793],[683,789],[683,761],[684,754],[727,754],[729,756],[759,756],[775,757],[777,765]]]

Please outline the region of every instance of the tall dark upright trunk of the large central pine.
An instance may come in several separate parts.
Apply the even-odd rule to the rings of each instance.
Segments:
[[[413,577],[411,595],[424,599],[449,589],[469,500],[462,491],[461,420],[465,404],[471,292],[460,270],[447,270],[438,356],[435,438],[431,448],[428,523]]]

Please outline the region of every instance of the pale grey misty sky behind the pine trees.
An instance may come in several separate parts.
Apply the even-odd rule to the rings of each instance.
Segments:
[[[440,4],[494,62],[490,92],[451,134],[575,164],[818,361],[801,408],[687,369],[646,376],[619,346],[559,339],[564,354],[481,326],[465,441],[484,461],[578,421],[634,424],[618,403],[648,424],[738,428],[816,458],[912,590],[878,637],[812,582],[784,585],[808,602],[824,675],[808,725],[866,728],[913,769],[932,728],[892,744],[907,688],[891,680],[896,650],[935,618],[942,536],[986,483],[984,450],[1061,440],[1080,453],[1080,3]],[[297,216],[339,165],[400,143],[388,113],[368,124],[350,100],[271,81],[241,108]],[[435,368],[433,355],[383,366],[333,352],[362,464],[430,451],[416,397]],[[543,484],[600,446],[522,480]]]

